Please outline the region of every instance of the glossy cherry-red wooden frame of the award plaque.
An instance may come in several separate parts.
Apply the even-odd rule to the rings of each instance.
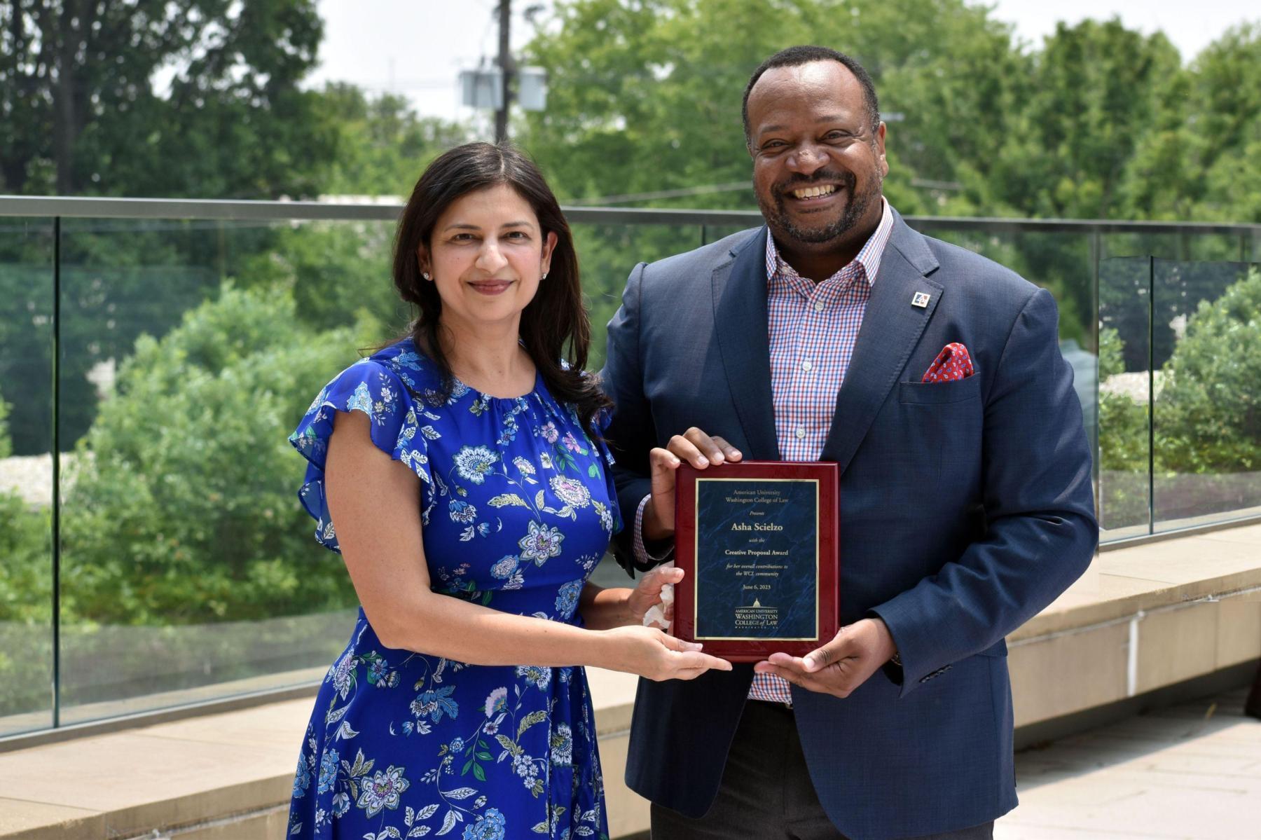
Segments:
[[[776,651],[803,656],[831,641],[840,628],[840,470],[832,462],[748,460],[704,470],[683,463],[675,473],[675,564],[683,570],[675,586],[672,633],[696,641],[696,481],[797,479],[818,482],[817,627],[812,638],[702,638],[705,652],[730,662],[760,662]]]

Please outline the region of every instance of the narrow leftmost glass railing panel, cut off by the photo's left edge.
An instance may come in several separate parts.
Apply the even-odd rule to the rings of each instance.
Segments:
[[[54,723],[53,231],[0,218],[0,735]]]

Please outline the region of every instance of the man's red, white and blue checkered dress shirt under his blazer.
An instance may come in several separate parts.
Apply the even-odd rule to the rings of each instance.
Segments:
[[[770,338],[770,394],[776,438],[782,460],[818,460],[836,411],[836,392],[854,354],[871,284],[893,232],[893,213],[884,212],[871,238],[852,262],[822,283],[802,277],[783,261],[773,236],[767,236],[767,330]],[[643,511],[634,521],[634,552],[649,555],[643,545]],[[749,697],[792,703],[788,682],[769,674],[754,674]]]

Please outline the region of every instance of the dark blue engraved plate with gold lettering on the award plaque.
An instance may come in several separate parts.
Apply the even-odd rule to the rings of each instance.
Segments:
[[[820,482],[714,473],[696,478],[695,638],[816,638]]]

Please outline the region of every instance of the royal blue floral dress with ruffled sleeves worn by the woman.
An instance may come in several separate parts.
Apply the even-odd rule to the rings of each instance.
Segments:
[[[435,592],[580,624],[579,593],[620,527],[603,444],[543,382],[517,399],[441,395],[410,339],[343,371],[290,438],[299,493],[338,551],[324,459],[338,411],[420,477]],[[604,785],[581,667],[492,667],[385,647],[359,609],[298,759],[289,835],[387,840],[604,837]]]

